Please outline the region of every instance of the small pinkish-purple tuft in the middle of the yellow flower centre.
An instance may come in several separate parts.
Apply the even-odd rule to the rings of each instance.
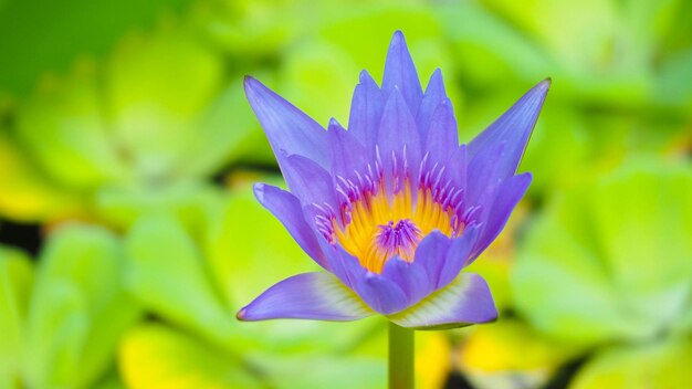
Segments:
[[[395,225],[394,221],[378,225],[379,232],[375,235],[375,244],[380,255],[391,257],[399,255],[406,261],[413,261],[416,246],[422,239],[420,229],[409,219],[401,219]]]

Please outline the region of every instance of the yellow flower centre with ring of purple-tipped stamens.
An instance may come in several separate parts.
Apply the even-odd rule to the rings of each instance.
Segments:
[[[418,177],[411,177],[406,148],[401,156],[392,154],[389,176],[379,154],[374,166],[354,170],[350,178],[336,176],[336,209],[313,203],[322,235],[374,273],[381,273],[394,256],[412,262],[418,244],[434,230],[452,238],[461,235],[478,208],[465,206],[464,189],[453,183],[444,166],[429,166],[426,155]]]

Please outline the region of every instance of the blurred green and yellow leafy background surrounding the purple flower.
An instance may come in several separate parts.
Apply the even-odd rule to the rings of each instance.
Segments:
[[[418,387],[692,387],[690,1],[0,0],[0,388],[384,387],[381,318],[234,314],[316,269],[243,75],[347,123],[395,30],[464,141],[553,77],[500,319],[418,333]]]

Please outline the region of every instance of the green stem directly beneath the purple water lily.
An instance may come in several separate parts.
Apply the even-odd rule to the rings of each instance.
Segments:
[[[389,323],[389,389],[413,389],[413,334]]]

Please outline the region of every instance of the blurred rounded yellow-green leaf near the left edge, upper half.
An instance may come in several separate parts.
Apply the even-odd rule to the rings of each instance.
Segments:
[[[21,146],[66,187],[93,189],[125,179],[99,101],[94,66],[82,63],[64,81],[46,81],[19,109],[14,132]]]

